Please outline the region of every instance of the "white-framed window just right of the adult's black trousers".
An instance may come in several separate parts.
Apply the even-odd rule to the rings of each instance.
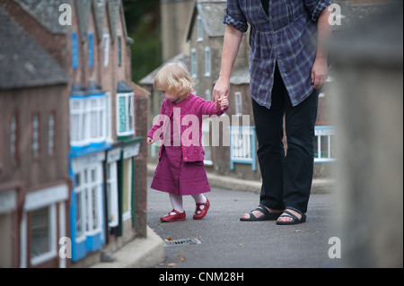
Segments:
[[[334,127],[315,126],[314,135],[314,162],[334,161]]]

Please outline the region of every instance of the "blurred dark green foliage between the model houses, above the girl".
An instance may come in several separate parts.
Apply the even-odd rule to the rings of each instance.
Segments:
[[[160,0],[123,0],[128,36],[135,40],[132,80],[139,82],[162,64]]]

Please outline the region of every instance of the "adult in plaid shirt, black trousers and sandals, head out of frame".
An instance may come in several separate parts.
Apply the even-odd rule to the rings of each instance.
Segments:
[[[241,221],[306,221],[318,95],[328,76],[329,4],[329,0],[227,0],[221,70],[212,100],[217,104],[229,97],[233,64],[250,24],[250,91],[262,177],[259,207]]]

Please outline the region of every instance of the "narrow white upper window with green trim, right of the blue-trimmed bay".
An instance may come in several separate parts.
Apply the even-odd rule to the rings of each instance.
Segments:
[[[134,93],[117,93],[117,133],[119,136],[135,134]]]

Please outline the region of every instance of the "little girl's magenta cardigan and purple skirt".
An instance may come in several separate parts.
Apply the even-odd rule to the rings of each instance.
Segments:
[[[147,134],[151,138],[155,136],[154,141],[160,136],[163,143],[159,151],[159,163],[154,171],[152,188],[174,195],[197,195],[210,191],[203,162],[205,152],[201,142],[202,116],[220,116],[227,109],[215,109],[214,102],[203,100],[192,93],[179,103],[172,103],[169,100],[162,102],[161,118]],[[179,115],[180,120],[179,118],[174,120],[174,117]],[[186,117],[188,115],[198,117],[199,138],[198,141],[194,141],[198,142],[195,145],[188,141],[189,138],[182,138],[189,125],[182,126],[181,123],[184,123],[184,117],[188,120]],[[164,133],[168,134],[164,132],[168,126],[171,136],[163,140]],[[155,133],[159,129],[160,132]]]

